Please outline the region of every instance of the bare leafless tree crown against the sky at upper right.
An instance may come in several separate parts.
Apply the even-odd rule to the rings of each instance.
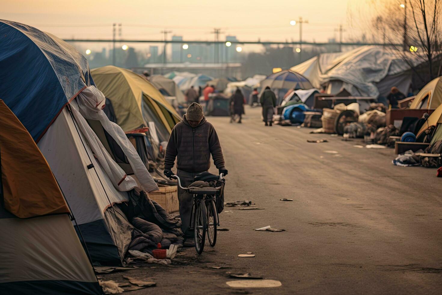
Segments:
[[[422,82],[441,75],[442,0],[366,0],[358,10],[354,27],[386,44]]]

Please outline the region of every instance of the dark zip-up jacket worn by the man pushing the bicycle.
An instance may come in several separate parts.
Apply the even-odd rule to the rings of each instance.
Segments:
[[[164,155],[164,171],[170,171],[177,157],[176,168],[187,172],[203,172],[210,168],[210,155],[217,169],[225,169],[224,157],[217,132],[203,117],[192,127],[183,121],[173,127]]]

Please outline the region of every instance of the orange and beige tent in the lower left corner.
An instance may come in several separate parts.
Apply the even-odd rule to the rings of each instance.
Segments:
[[[103,294],[48,163],[3,100],[0,130],[2,294]]]

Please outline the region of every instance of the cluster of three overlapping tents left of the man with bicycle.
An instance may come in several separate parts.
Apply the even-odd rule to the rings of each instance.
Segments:
[[[133,238],[115,205],[168,184],[164,142],[181,118],[129,70],[91,71],[21,23],[0,33],[0,289],[102,294],[91,264],[122,265]]]

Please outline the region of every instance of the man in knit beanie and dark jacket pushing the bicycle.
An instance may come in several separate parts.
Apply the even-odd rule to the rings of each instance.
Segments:
[[[218,172],[227,175],[228,171],[225,169],[217,132],[204,117],[202,106],[198,103],[192,103],[187,108],[186,114],[183,115],[183,121],[176,124],[170,134],[164,155],[164,175],[170,178],[174,174],[172,168],[176,158],[176,174],[181,180],[181,185],[187,187],[193,182],[197,174],[209,170],[210,155],[212,155],[213,163]],[[178,201],[184,236],[193,238],[193,233],[188,232],[193,195],[178,188]],[[217,199],[218,213],[221,213],[223,208],[224,194]]]

